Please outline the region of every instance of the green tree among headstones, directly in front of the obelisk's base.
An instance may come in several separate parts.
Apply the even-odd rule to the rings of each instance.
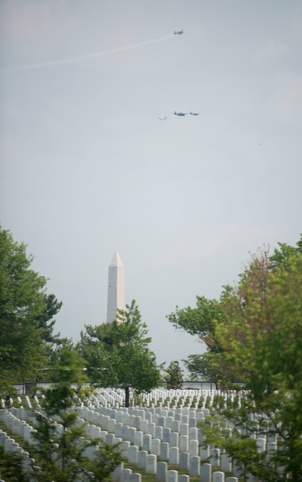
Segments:
[[[78,349],[88,362],[93,382],[104,388],[124,388],[128,407],[130,389],[139,395],[160,385],[161,367],[148,348],[151,338],[146,337],[147,325],[141,321],[135,300],[126,308],[119,310],[112,323],[85,325]]]

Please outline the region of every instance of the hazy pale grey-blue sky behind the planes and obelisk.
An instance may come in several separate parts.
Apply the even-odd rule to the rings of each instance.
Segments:
[[[165,315],[302,232],[302,1],[2,0],[0,45],[0,219],[57,331],[106,320],[117,249],[158,360],[201,352]]]

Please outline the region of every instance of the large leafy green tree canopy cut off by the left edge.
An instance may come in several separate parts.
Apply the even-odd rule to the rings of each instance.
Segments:
[[[54,341],[54,321],[62,303],[45,294],[46,278],[30,269],[33,255],[0,226],[0,379],[32,377],[47,364],[46,342]]]

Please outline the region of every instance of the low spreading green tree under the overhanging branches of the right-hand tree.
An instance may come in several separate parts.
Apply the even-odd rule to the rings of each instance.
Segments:
[[[216,389],[218,385],[225,386],[234,382],[235,378],[224,356],[220,353],[203,353],[202,355],[189,355],[183,360],[189,370],[191,379],[213,382]]]

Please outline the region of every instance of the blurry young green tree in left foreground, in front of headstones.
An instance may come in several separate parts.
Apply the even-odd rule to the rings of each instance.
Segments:
[[[98,439],[88,440],[85,424],[76,423],[77,412],[73,410],[75,386],[83,387],[88,381],[85,361],[75,350],[63,346],[56,365],[53,366],[51,388],[46,390],[42,402],[43,414],[35,412],[38,420],[37,433],[39,463],[42,472],[33,474],[34,480],[51,482],[73,482],[88,480],[88,470],[93,471],[94,481],[104,477],[122,461],[119,444],[108,445]],[[63,431],[59,435],[52,417],[59,418]],[[93,462],[89,462],[85,451],[100,442]],[[54,463],[55,462],[55,463]]]

